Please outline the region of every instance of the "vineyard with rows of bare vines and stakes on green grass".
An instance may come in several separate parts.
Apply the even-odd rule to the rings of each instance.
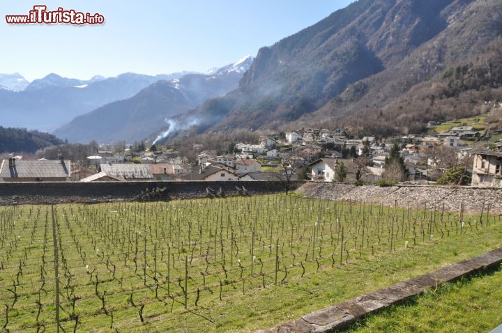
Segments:
[[[324,302],[343,296],[319,291],[327,277],[367,270],[393,253],[432,252],[435,244],[458,251],[469,238],[494,235],[498,242],[499,224],[489,206],[464,216],[462,208],[412,210],[296,194],[3,207],[0,326],[249,330],[254,316],[274,312],[284,321],[284,311],[298,309],[288,302],[293,294]],[[348,275],[344,280],[337,283],[350,284]],[[253,302],[261,312],[242,311]]]

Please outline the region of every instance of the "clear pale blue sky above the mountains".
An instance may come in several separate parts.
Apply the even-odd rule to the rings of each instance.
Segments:
[[[206,71],[255,56],[352,0],[3,0],[0,73],[30,81],[55,72],[89,79],[122,72]],[[105,15],[102,26],[8,25],[36,4]]]

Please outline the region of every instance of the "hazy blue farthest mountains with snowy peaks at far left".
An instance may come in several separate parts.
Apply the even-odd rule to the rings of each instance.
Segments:
[[[0,86],[5,87],[0,87],[1,125],[52,131],[104,104],[130,98],[159,80],[176,79],[188,73],[155,76],[125,73],[91,80],[50,74],[31,83],[17,74],[0,75]]]

